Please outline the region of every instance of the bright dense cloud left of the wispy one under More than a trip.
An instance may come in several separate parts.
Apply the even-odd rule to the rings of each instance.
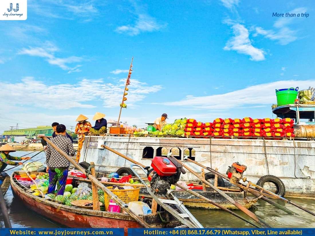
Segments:
[[[233,50],[238,53],[249,55],[253,61],[265,60],[265,52],[262,49],[255,48],[249,40],[249,32],[244,25],[235,24],[232,26],[234,37],[232,37],[223,48],[224,50]]]

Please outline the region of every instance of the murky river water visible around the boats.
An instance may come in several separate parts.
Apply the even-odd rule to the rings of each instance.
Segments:
[[[17,151],[14,153],[16,156],[22,156],[27,153],[26,151]],[[32,153],[29,156],[33,156],[38,152]],[[28,155],[27,155],[28,156]],[[44,152],[40,153],[31,160],[45,161]],[[10,168],[11,166],[8,166]],[[10,175],[13,171],[20,167],[16,167],[13,170],[7,171]],[[21,204],[18,199],[14,198],[11,188],[5,195],[5,201],[7,203],[8,212],[12,227],[14,228],[58,228],[63,227],[43,216],[38,215],[34,211],[30,211],[25,205]],[[308,210],[315,211],[314,199],[299,199],[292,198],[298,205],[305,207]],[[288,215],[285,212],[278,210],[274,206],[266,203],[265,201],[259,200],[255,206],[257,209],[251,209],[257,216],[261,217],[267,222],[272,228],[315,228],[315,217],[296,208],[293,205],[285,204],[283,201],[276,200],[281,205],[285,205],[291,211],[298,213],[299,215],[293,216]],[[243,222],[242,220],[230,215],[221,210],[205,210],[205,209],[189,209],[192,214],[198,219],[198,221],[207,228],[249,228],[252,227],[250,224]],[[242,211],[236,211],[243,217],[248,217]],[[3,216],[0,214],[0,225],[3,225]]]

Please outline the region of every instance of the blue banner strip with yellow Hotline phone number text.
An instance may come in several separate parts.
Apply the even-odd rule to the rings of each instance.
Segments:
[[[128,236],[155,235],[315,235],[315,228],[130,228]]]

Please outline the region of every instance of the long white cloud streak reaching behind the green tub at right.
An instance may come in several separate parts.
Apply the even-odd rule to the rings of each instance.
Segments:
[[[190,96],[180,101],[165,103],[165,105],[182,106],[187,109],[190,107],[201,107],[208,110],[230,110],[244,106],[271,105],[277,101],[275,89],[297,86],[303,89],[314,83],[315,79],[300,81],[282,80],[250,86],[230,93],[200,97]]]

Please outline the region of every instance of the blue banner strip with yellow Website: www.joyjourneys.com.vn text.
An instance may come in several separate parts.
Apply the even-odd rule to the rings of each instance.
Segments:
[[[0,236],[124,236],[123,228],[0,228]]]

